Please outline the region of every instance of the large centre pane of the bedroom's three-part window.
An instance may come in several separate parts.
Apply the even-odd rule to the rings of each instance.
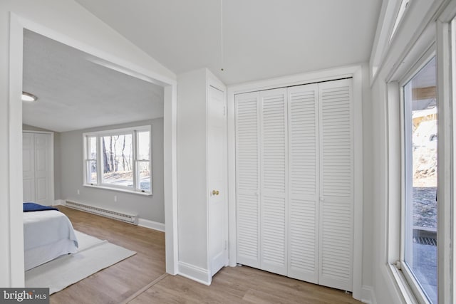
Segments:
[[[101,137],[103,184],[133,188],[133,136]]]

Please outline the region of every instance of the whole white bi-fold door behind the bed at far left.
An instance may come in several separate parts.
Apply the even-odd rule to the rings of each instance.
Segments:
[[[50,133],[22,134],[23,200],[53,204],[53,143]]]

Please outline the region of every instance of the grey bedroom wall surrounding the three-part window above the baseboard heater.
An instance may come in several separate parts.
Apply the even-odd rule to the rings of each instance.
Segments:
[[[83,133],[140,125],[152,126],[152,196],[83,186]],[[163,118],[62,132],[60,152],[62,199],[71,199],[106,209],[135,213],[141,219],[165,223]],[[78,190],[80,194],[78,194]],[[117,201],[114,201],[114,196],[117,196]]]

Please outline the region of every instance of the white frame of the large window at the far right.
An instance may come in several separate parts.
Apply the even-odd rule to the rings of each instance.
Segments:
[[[395,285],[402,295],[403,303],[428,303],[420,288],[410,284],[413,276],[407,267],[403,266],[403,125],[401,118],[402,105],[400,91],[411,74],[420,70],[427,60],[435,54],[437,63],[437,103],[438,117],[438,206],[437,206],[437,300],[439,303],[453,303],[455,300],[455,238],[456,219],[455,189],[456,189],[456,1],[452,1],[435,21],[430,22],[415,43],[408,48],[408,53],[400,56],[395,68],[387,80],[388,92],[388,246],[387,258],[390,275],[395,279]],[[404,64],[406,63],[406,64]],[[413,71],[413,72],[411,72]],[[407,79],[408,78],[408,79]],[[401,134],[398,135],[398,130]]]

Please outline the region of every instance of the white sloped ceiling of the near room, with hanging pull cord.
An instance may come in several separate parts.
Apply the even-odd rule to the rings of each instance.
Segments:
[[[382,2],[76,1],[177,75],[209,68],[227,85],[368,62]]]

